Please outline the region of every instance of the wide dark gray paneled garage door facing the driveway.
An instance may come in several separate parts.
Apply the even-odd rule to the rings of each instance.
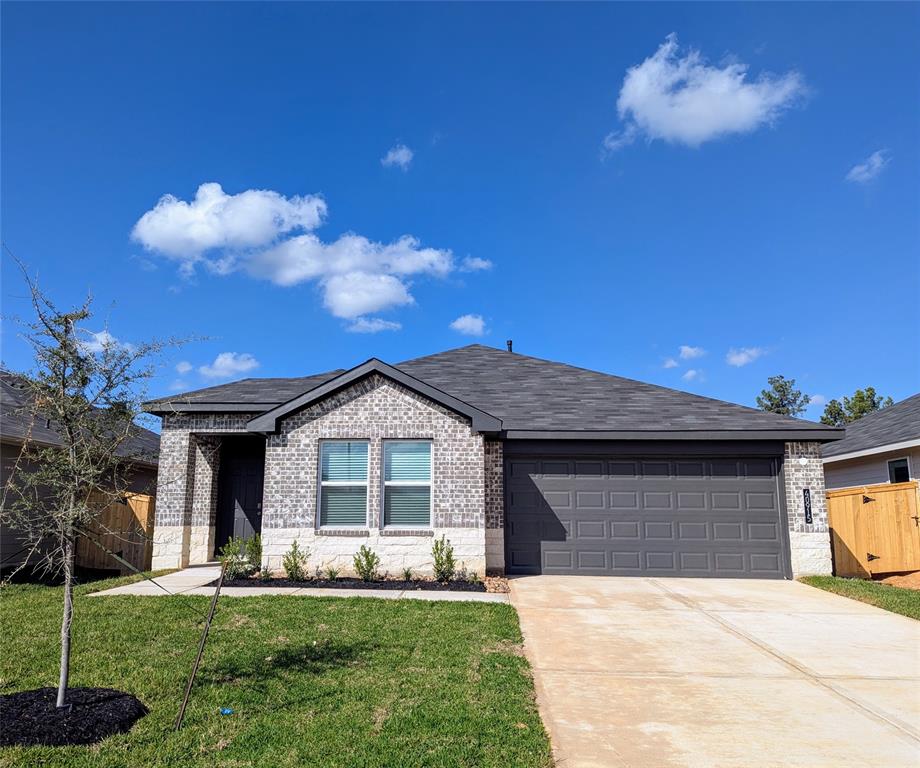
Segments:
[[[505,466],[509,573],[784,578],[773,457],[526,457]]]

